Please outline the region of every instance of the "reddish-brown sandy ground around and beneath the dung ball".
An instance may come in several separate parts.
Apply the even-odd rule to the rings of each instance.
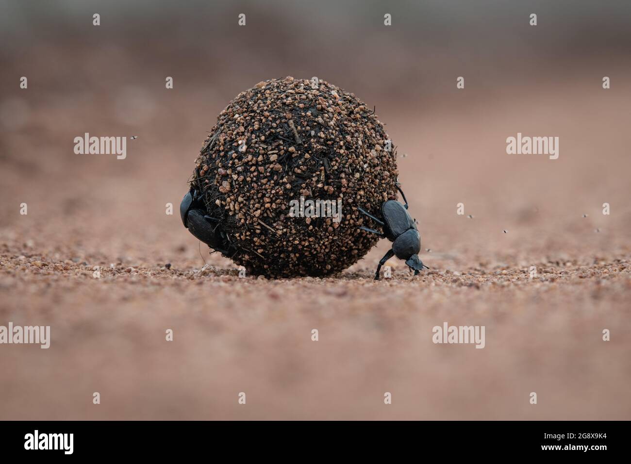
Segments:
[[[15,127],[4,100],[0,324],[52,342],[0,346],[0,419],[631,419],[631,89],[598,82],[383,104],[431,270],[381,282],[387,242],[338,277],[268,281],[182,227],[209,115],[240,88],[33,85]],[[518,131],[560,136],[559,159],[507,155]],[[74,155],[84,132],[138,139]],[[433,344],[444,322],[485,326],[485,348]]]

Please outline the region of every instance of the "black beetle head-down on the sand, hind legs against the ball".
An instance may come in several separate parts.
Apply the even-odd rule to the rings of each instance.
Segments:
[[[363,225],[360,226],[360,229],[372,232],[372,234],[377,234],[379,237],[384,237],[393,242],[392,248],[386,253],[386,256],[379,261],[379,266],[377,266],[377,272],[375,273],[375,280],[379,280],[381,266],[386,264],[386,261],[395,255],[397,258],[405,260],[406,265],[408,265],[411,270],[414,270],[414,275],[418,275],[418,272],[422,271],[423,268],[429,269],[423,264],[423,261],[418,258],[418,253],[421,251],[421,236],[418,234],[415,221],[410,217],[410,214],[408,214],[408,200],[405,198],[401,187],[399,187],[398,184],[396,187],[398,191],[401,192],[405,205],[401,205],[401,203],[396,200],[389,199],[381,205],[382,219],[374,217],[362,208],[357,208],[362,214],[379,224],[384,231],[379,232],[379,230],[369,229]]]

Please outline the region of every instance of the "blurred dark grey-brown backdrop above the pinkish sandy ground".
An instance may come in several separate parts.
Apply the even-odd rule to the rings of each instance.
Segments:
[[[176,74],[177,66],[180,86],[201,81],[232,98],[262,77],[317,74],[379,106],[398,98],[403,112],[436,94],[453,98],[452,75],[488,92],[502,82],[599,76],[599,62],[615,74],[628,61],[612,57],[628,57],[631,46],[623,1],[3,1],[0,13],[0,58],[19,58],[26,72],[40,64],[28,53],[38,54],[52,85],[81,85],[81,68],[62,59],[76,47],[77,57],[90,51],[102,63],[93,72],[108,70],[112,85],[128,68]],[[246,27],[236,26],[239,13]]]

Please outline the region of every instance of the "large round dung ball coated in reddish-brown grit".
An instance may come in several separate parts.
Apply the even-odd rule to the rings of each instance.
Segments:
[[[326,81],[262,81],[221,111],[196,160],[212,227],[251,275],[322,277],[379,237],[358,207],[396,199],[396,152],[372,108]]]

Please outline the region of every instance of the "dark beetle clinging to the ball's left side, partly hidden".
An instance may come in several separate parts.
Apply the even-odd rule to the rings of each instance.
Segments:
[[[228,235],[221,227],[220,220],[208,215],[201,194],[195,187],[191,187],[191,190],[184,195],[180,203],[180,217],[182,217],[184,227],[189,229],[191,234],[215,251],[228,258],[237,252],[237,248],[230,243]]]

